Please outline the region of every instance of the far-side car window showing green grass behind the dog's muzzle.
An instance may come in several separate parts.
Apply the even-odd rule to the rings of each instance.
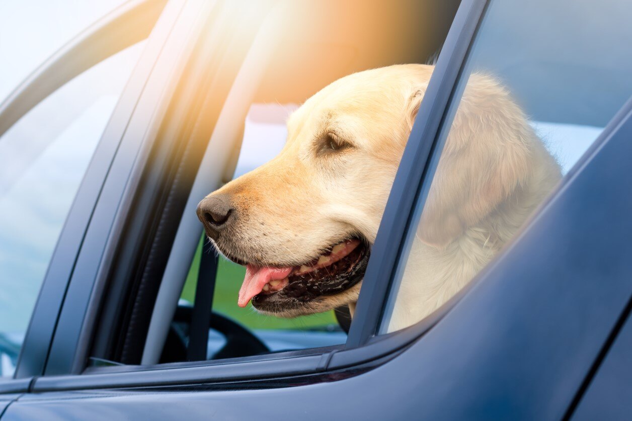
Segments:
[[[233,179],[265,164],[279,154],[288,135],[286,119],[297,107],[296,104],[252,104],[250,106],[244,122],[243,140]],[[198,269],[205,241],[208,240],[203,235],[181,295],[181,299],[191,305],[195,301]],[[339,327],[333,310],[282,319],[262,317],[252,307],[252,303],[248,303],[246,308],[238,307],[237,297],[245,274],[244,266],[233,263],[223,256],[219,257],[212,303],[214,312],[226,315],[248,327],[264,341],[271,351],[316,348],[344,343],[346,334]],[[210,335],[210,354],[219,350],[222,345],[224,341],[221,336]]]

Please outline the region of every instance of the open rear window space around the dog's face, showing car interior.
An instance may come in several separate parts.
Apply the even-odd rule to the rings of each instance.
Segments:
[[[207,137],[189,138],[172,134],[163,137],[163,143],[156,146],[177,150],[176,153],[154,153],[174,161],[167,168],[172,172],[164,175],[166,183],[160,186],[164,188],[160,197],[167,199],[166,202],[161,202],[162,199],[147,202],[152,206],[152,214],[143,214],[142,217],[151,217],[155,221],[146,233],[140,229],[135,231],[138,235],[133,240],[143,241],[145,245],[138,252],[139,257],[135,258],[138,263],[128,260],[131,269],[125,273],[121,269],[116,288],[125,290],[125,295],[121,293],[121,298],[118,298],[121,303],[105,306],[111,309],[108,311],[112,314],[119,312],[116,316],[118,320],[107,327],[112,329],[107,333],[108,337],[100,332],[104,339],[99,351],[94,354],[93,365],[98,364],[97,358],[130,365],[155,365],[190,359],[185,356],[185,348],[191,339],[191,320],[195,318],[195,295],[200,286],[200,267],[204,265],[202,257],[215,253],[208,247],[208,240],[202,233],[204,227],[195,215],[198,202],[236,176],[276,156],[286,144],[286,116],[289,111],[329,83],[351,73],[380,66],[431,61],[441,48],[457,6],[456,1],[441,5],[431,1],[404,1],[397,7],[390,2],[379,2],[370,8],[360,7],[362,13],[358,15],[358,7],[351,4],[319,1],[284,3],[280,13],[281,24],[272,25],[277,35],[280,34],[277,38],[265,35],[265,24],[261,26],[264,29],[257,32],[257,25],[261,25],[260,20],[265,13],[246,16],[234,11],[228,3],[214,10],[217,13],[214,17],[217,21],[213,25],[216,29],[205,34],[200,43],[221,46],[209,47],[212,54],[209,53],[205,61],[210,69],[206,74],[221,76],[213,76],[217,80],[202,85],[203,88],[198,88],[195,95],[186,101],[203,104],[217,114],[198,117],[196,125],[210,128],[210,134],[205,133]],[[216,23],[224,12],[232,20],[231,30],[222,32],[218,29],[221,25]],[[420,16],[433,17],[427,18],[427,25],[419,25]],[[332,26],[339,30],[323,33],[323,27]],[[379,32],[375,31],[376,27],[380,27]],[[246,34],[252,39],[248,40]],[[252,42],[252,48],[244,47],[247,42]],[[235,65],[238,54],[244,57],[241,65]],[[218,63],[222,60],[234,67],[219,67]],[[228,75],[231,71],[236,76],[234,73]],[[219,90],[222,94],[217,94]],[[202,99],[205,95],[209,98]],[[196,130],[196,125],[191,123],[193,130]],[[173,142],[172,146],[167,142]],[[196,143],[195,148],[198,149],[190,152],[191,146],[186,142],[191,145],[198,142],[201,146]],[[204,156],[200,157],[201,154]],[[144,171],[159,171],[153,166],[154,162],[150,159]],[[185,176],[178,178],[179,173]],[[172,179],[169,174],[176,175]],[[191,174],[194,178],[191,183],[182,181]],[[150,179],[149,176],[147,178]],[[136,194],[140,197],[143,193]],[[171,197],[174,197],[175,205],[169,202]],[[183,198],[186,204],[179,207],[177,200]],[[169,206],[161,208],[165,203]],[[131,209],[145,208],[131,205]],[[288,211],[279,207],[281,215]],[[123,230],[123,235],[128,232]],[[129,244],[130,241],[127,241],[121,247]],[[159,257],[155,257],[154,253]],[[123,258],[116,259],[114,271],[118,271],[116,265]],[[254,336],[264,343],[266,352],[345,343],[343,326],[329,308],[306,317],[287,319],[255,312],[250,304],[239,307],[238,292],[245,278],[245,268],[222,256],[215,264],[217,267],[204,278],[212,283],[210,327],[213,327],[214,319],[225,322],[227,326],[238,325],[231,329]],[[149,269],[143,272],[143,267]],[[348,326],[348,319],[344,323],[344,327]],[[213,330],[217,329],[209,333],[206,353],[209,358],[226,346],[226,341],[230,342],[226,331],[220,337]],[[248,355],[262,353],[258,350]],[[221,358],[245,356],[221,353]],[[217,355],[214,357],[218,358]]]

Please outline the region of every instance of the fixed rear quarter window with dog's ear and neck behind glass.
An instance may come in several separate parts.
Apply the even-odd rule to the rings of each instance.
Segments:
[[[520,232],[632,95],[629,2],[494,0],[460,76],[381,333],[431,314]],[[432,174],[432,172],[431,172]],[[511,274],[507,274],[511,276]]]

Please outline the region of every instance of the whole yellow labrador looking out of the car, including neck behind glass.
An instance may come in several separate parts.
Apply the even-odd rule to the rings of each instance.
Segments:
[[[288,119],[281,154],[198,205],[207,235],[246,266],[238,305],[282,317],[355,308],[399,160],[433,66],[345,76]],[[520,108],[471,75],[411,250],[390,330],[459,291],[560,178]]]

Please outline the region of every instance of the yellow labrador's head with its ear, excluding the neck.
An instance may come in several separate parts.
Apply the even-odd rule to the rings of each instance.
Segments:
[[[406,64],[337,80],[290,116],[279,156],[200,202],[210,240],[246,265],[241,307],[252,300],[261,312],[293,317],[355,303],[432,70]],[[459,109],[462,128],[451,131],[437,169],[420,231],[433,247],[458,238],[525,176],[524,128],[498,119],[513,104],[489,83],[484,104]],[[485,174],[476,173],[481,165]]]

